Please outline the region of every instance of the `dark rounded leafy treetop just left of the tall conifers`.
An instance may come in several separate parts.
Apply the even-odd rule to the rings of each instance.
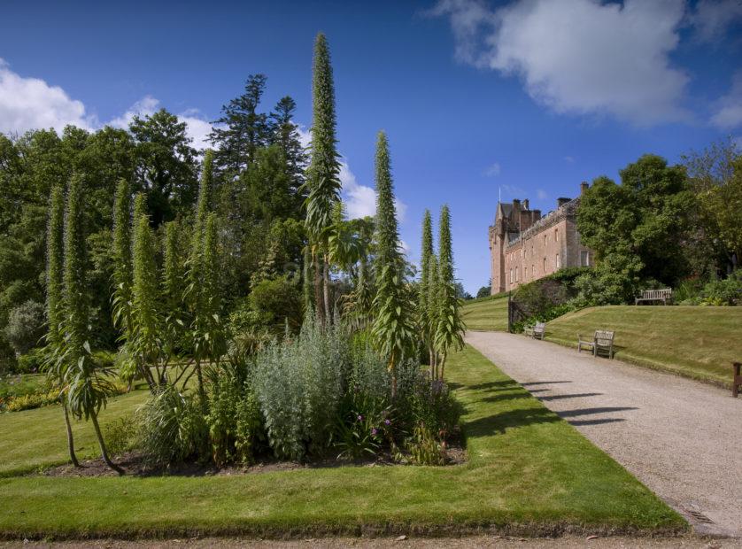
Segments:
[[[135,138],[137,190],[147,194],[151,224],[159,227],[177,213],[187,213],[196,194],[196,151],[186,123],[160,109],[129,125]]]

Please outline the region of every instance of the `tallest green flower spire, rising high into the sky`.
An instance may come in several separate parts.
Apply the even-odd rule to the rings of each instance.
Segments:
[[[340,155],[336,149],[335,84],[327,38],[322,33],[314,41],[312,101],[312,157],[307,171],[309,194],[305,222],[315,265],[321,259],[321,265],[314,268],[314,302],[318,312],[328,317],[328,233],[336,202],[340,200],[341,184]]]

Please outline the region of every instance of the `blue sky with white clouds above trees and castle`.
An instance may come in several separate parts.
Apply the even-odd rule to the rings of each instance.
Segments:
[[[298,5],[297,5],[298,4]],[[313,37],[328,35],[351,211],[373,209],[390,139],[401,235],[452,208],[457,274],[487,283],[503,200],[545,212],[645,152],[670,162],[742,136],[740,0],[4,2],[0,131],[125,124],[158,106],[205,134],[250,73],[311,124]]]

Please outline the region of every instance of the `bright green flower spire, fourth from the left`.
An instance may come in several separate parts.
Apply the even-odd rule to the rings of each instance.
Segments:
[[[154,393],[165,383],[163,321],[160,317],[155,237],[146,213],[146,198],[139,194],[134,206],[134,277],[132,286],[132,334],[128,352],[137,370]],[[152,374],[154,372],[154,374]]]

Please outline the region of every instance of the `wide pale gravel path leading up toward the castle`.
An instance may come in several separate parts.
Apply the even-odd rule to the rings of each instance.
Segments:
[[[697,532],[742,537],[742,398],[524,336],[468,332],[466,340]]]

